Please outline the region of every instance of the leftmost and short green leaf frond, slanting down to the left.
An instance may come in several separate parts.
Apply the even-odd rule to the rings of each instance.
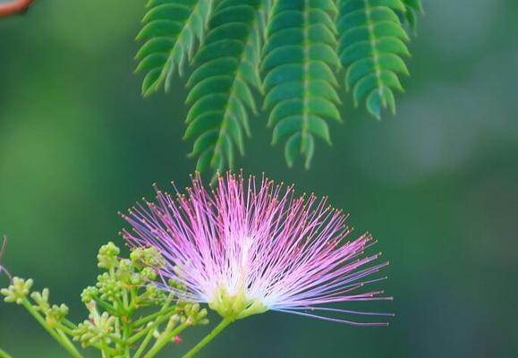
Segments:
[[[174,72],[183,68],[194,54],[196,42],[203,40],[212,9],[212,0],[149,0],[144,27],[137,39],[145,41],[136,55],[138,72],[147,72],[142,82],[144,96],[168,90]]]

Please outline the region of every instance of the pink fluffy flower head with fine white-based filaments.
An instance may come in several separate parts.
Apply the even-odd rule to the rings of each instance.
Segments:
[[[348,241],[346,215],[326,198],[296,197],[293,187],[242,175],[217,177],[206,188],[200,176],[186,194],[157,190],[156,202],[137,204],[123,218],[133,247],[154,247],[166,260],[157,273],[179,299],[208,306],[229,320],[283,311],[342,323],[326,313],[345,311],[334,303],[389,300],[383,291],[358,292],[386,277],[368,279],[387,265],[364,256],[369,234]],[[173,279],[183,290],[166,282]],[[320,314],[323,313],[323,314]]]

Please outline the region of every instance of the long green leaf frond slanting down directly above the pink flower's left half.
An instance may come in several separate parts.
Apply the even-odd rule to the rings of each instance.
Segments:
[[[261,27],[267,13],[262,0],[222,0],[209,21],[208,35],[194,58],[197,67],[187,86],[185,139],[197,138],[191,157],[197,170],[234,166],[234,150],[244,153],[250,135],[248,112],[257,113],[251,87],[259,90]]]

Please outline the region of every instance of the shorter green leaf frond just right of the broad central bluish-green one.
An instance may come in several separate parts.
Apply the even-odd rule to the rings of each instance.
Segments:
[[[340,1],[338,51],[347,68],[345,86],[355,106],[365,100],[377,118],[382,108],[395,113],[393,90],[403,91],[397,73],[408,74],[401,57],[410,55],[408,35],[397,12],[406,12],[402,0]]]

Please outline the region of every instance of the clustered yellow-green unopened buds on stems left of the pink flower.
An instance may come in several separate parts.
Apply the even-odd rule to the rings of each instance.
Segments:
[[[80,355],[73,342],[83,348],[95,347],[103,356],[125,357],[139,342],[145,347],[155,338],[156,344],[149,344],[153,351],[157,344],[180,343],[178,334],[185,328],[208,324],[208,312],[200,304],[178,302],[176,294],[184,286],[174,280],[166,283],[170,289],[157,285],[157,270],[166,261],[156,249],[137,248],[129,259],[119,257],[120,253],[115,243],[99,249],[98,268],[103,272],[94,286],[81,293],[89,315],[77,325],[67,320],[65,304],[49,302],[48,288],[31,292],[31,279],[13,277],[0,294],[7,303],[23,305],[73,356]]]

